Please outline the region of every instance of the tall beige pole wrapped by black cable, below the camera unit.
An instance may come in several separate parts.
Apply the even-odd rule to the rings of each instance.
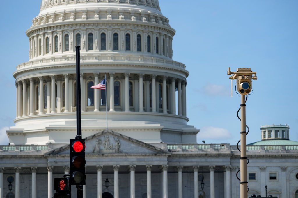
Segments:
[[[247,157],[246,157],[246,120],[245,95],[241,94],[241,132],[240,132],[240,198],[247,198]]]

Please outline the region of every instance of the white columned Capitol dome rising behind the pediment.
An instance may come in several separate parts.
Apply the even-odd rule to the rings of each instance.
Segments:
[[[10,144],[66,144],[76,134],[75,46],[80,45],[83,137],[108,128],[149,143],[196,143],[187,125],[185,65],[158,0],[43,0],[26,31]],[[105,90],[93,90],[107,76]],[[111,86],[112,85],[112,86]],[[141,86],[140,86],[141,85]]]

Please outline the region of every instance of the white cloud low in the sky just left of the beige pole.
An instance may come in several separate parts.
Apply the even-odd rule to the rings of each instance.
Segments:
[[[214,126],[204,126],[198,133],[197,140],[226,140],[231,137],[232,135],[227,129],[218,128]]]

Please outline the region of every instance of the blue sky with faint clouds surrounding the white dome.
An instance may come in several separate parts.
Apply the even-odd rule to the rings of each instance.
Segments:
[[[25,34],[41,0],[3,1],[0,11],[0,144],[15,118],[15,67],[28,61]],[[231,143],[239,139],[236,117],[240,98],[230,98],[228,67],[257,72],[247,101],[247,142],[259,141],[260,125],[288,124],[298,141],[298,1],[159,0],[176,29],[173,59],[186,64],[187,116],[201,132],[198,142]]]

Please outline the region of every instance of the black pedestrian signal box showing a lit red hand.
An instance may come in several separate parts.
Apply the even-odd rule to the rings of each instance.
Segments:
[[[54,198],[71,198],[70,178],[55,178],[54,190]]]

